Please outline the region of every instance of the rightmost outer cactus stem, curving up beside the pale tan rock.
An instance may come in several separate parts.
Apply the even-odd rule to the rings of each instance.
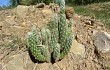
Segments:
[[[70,48],[71,48],[71,45],[72,45],[72,40],[73,40],[73,34],[68,37],[65,47],[64,47],[63,50],[60,52],[60,53],[61,53],[61,54],[60,54],[60,58],[59,58],[60,60],[61,60],[62,58],[64,58],[65,55],[68,54],[68,52],[69,52],[69,50],[70,50]]]

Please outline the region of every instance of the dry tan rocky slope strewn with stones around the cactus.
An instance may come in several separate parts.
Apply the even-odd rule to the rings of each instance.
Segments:
[[[68,10],[69,11],[69,10]],[[53,17],[49,6],[18,6],[0,11],[0,70],[109,70],[110,31],[93,17],[74,14],[69,54],[56,63],[38,63],[26,48],[32,25],[43,27]]]

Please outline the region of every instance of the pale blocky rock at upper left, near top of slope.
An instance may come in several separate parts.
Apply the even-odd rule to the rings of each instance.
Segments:
[[[18,5],[16,8],[16,14],[19,15],[19,17],[24,18],[25,15],[28,13],[29,6],[23,6],[23,5]]]

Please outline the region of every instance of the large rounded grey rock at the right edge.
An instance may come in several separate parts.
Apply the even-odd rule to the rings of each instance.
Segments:
[[[93,31],[93,40],[96,50],[101,53],[110,51],[110,34],[103,31]]]

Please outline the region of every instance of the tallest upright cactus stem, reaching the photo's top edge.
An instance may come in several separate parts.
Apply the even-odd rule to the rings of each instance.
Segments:
[[[66,15],[65,15],[65,0],[60,1],[60,23],[59,23],[59,43],[61,49],[64,47],[66,42]]]

